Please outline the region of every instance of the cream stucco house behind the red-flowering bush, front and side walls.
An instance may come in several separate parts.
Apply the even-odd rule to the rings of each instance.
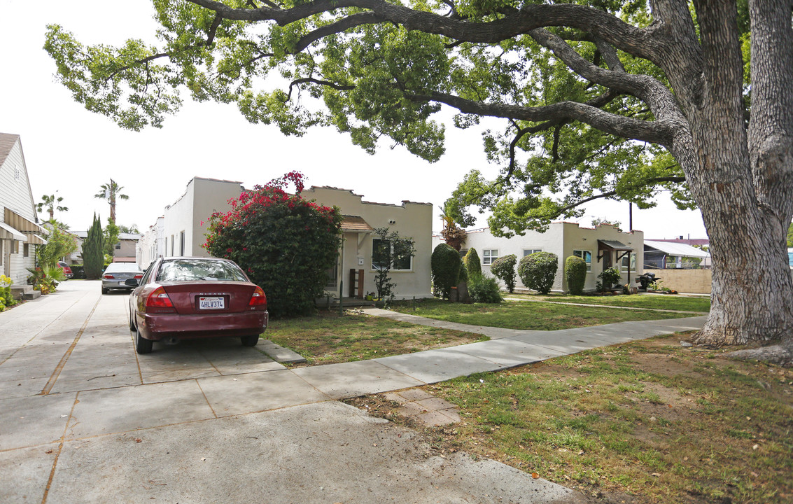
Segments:
[[[136,252],[140,267],[147,267],[159,256],[209,256],[201,248],[207,229],[206,224],[201,223],[208,221],[213,212],[228,212],[231,209],[228,199],[238,197],[243,190],[239,182],[199,177],[190,180],[182,198],[167,206],[163,217],[141,238]],[[302,196],[320,205],[337,206],[344,216],[343,247],[339,250],[336,266],[328,271],[326,287],[335,297],[340,287],[343,287],[343,297],[376,291],[372,243],[376,239],[374,229],[380,227],[397,231],[400,237],[412,238],[416,244],[416,256],[391,271],[393,282],[397,283],[397,298],[431,296],[431,204],[365,202],[351,190],[335,187],[311,187],[304,190]]]

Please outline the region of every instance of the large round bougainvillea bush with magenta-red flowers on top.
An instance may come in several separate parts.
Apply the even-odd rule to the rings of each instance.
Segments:
[[[292,171],[228,200],[232,210],[212,214],[205,233],[210,254],[233,260],[262,287],[273,317],[314,310],[341,244],[339,209],[301,198],[304,178]]]

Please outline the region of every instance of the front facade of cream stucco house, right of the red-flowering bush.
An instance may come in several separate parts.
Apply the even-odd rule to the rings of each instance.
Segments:
[[[327,186],[312,186],[301,195],[305,199],[316,199],[324,206],[338,206],[344,216],[343,247],[336,267],[328,271],[326,290],[338,294],[342,286],[345,298],[358,298],[367,292],[377,293],[374,284],[376,271],[372,265],[372,244],[378,239],[374,236],[374,229],[389,228],[400,237],[411,238],[416,247],[416,256],[397,264],[390,272],[392,281],[397,284],[394,288],[397,299],[431,297],[431,203],[406,200],[401,205],[365,202],[361,195],[351,190]]]

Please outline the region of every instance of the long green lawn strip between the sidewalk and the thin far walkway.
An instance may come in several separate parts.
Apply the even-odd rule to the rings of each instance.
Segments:
[[[625,296],[633,298],[636,296]],[[659,320],[662,318],[688,317],[688,314],[672,314],[651,310],[612,310],[588,306],[565,306],[563,304],[508,301],[500,304],[474,303],[463,305],[440,299],[396,302],[391,310],[419,317],[471,325],[490,325],[505,329],[536,329],[554,331],[588,325],[603,325],[614,322]]]

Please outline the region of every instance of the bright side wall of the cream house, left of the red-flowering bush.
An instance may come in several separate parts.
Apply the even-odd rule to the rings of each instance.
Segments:
[[[140,267],[147,268],[158,257],[209,257],[201,247],[206,241],[206,222],[215,212],[231,210],[228,200],[239,197],[243,190],[242,183],[231,180],[190,179],[185,194],[166,206],[163,216],[141,238],[136,250]]]

